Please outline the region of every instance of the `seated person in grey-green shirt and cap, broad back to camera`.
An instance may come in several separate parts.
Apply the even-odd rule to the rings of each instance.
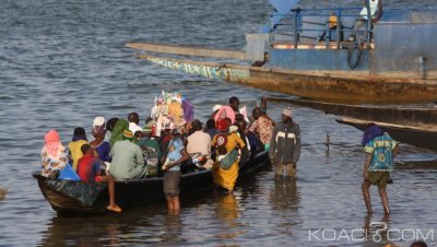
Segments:
[[[143,153],[132,143],[133,133],[125,130],[123,140],[117,141],[110,150],[113,162],[109,173],[116,180],[139,179],[147,176],[147,166],[144,164]]]

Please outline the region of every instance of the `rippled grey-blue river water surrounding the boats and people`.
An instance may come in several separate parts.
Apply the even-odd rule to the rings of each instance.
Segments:
[[[385,2],[408,7],[411,1]],[[434,0],[414,2],[429,7]],[[161,90],[186,95],[199,118],[232,95],[252,107],[268,94],[154,67],[133,58],[134,51],[123,44],[243,47],[244,34],[260,28],[271,8],[264,0],[3,0],[0,7],[0,186],[9,189],[0,201],[0,246],[378,246],[374,236],[381,236],[380,246],[409,243],[390,242],[399,234],[381,231],[383,224],[393,232],[434,231],[437,237],[437,162],[429,162],[436,154],[403,145],[389,188],[392,215],[383,217],[374,188],[375,213],[366,217],[361,132],[306,108],[294,110],[304,138],[297,181],[274,181],[267,169],[244,180],[235,197],[205,193],[185,199],[180,215],[168,215],[163,202],[117,215],[58,217],[31,177],[48,129],[58,129],[67,144],[74,127],[90,129],[97,115],[108,119],[134,110],[144,119]],[[277,119],[282,107],[271,104],[270,114]],[[327,133],[333,142],[329,154],[323,145]],[[327,230],[324,240],[318,239],[321,232],[308,234],[316,228]],[[347,235],[327,240],[333,234],[339,238],[342,228]],[[354,230],[358,234],[352,236]],[[363,238],[363,231],[367,239],[349,240]],[[411,232],[405,237],[412,238]]]

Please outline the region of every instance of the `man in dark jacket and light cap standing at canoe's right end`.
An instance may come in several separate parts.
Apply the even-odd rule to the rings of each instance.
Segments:
[[[293,121],[290,107],[282,110],[282,121],[274,126],[269,156],[275,178],[296,177],[296,164],[300,156],[300,129]]]

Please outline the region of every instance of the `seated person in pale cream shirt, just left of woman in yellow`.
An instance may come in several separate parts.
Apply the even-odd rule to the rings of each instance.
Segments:
[[[194,119],[191,122],[193,133],[187,138],[187,152],[188,154],[200,153],[206,156],[204,168],[211,169],[214,161],[211,160],[211,137],[202,131],[202,122]]]

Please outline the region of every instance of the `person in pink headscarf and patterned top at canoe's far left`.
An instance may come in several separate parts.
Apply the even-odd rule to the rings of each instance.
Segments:
[[[63,169],[69,162],[69,152],[60,142],[59,133],[50,130],[44,137],[45,145],[42,150],[42,175],[56,178],[57,172]]]

